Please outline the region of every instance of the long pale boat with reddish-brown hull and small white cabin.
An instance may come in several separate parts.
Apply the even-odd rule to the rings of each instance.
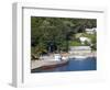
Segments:
[[[55,54],[53,59],[44,59],[44,60],[38,60],[32,64],[31,69],[51,69],[55,67],[61,67],[64,66],[68,63],[69,58],[68,56],[62,56],[61,54]]]

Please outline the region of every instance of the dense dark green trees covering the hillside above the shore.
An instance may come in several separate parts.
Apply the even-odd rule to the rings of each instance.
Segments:
[[[85,33],[86,27],[96,27],[96,23],[95,19],[32,16],[32,58],[38,58],[41,55],[48,53],[68,52],[69,45],[80,45],[79,41],[75,38],[75,34]],[[95,37],[92,37],[92,43],[96,43]]]

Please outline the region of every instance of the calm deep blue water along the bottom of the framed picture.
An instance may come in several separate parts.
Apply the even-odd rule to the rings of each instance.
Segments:
[[[97,59],[92,58],[72,58],[67,65],[51,68],[51,69],[34,69],[32,72],[52,72],[52,71],[81,71],[81,70],[96,70],[97,69]]]

